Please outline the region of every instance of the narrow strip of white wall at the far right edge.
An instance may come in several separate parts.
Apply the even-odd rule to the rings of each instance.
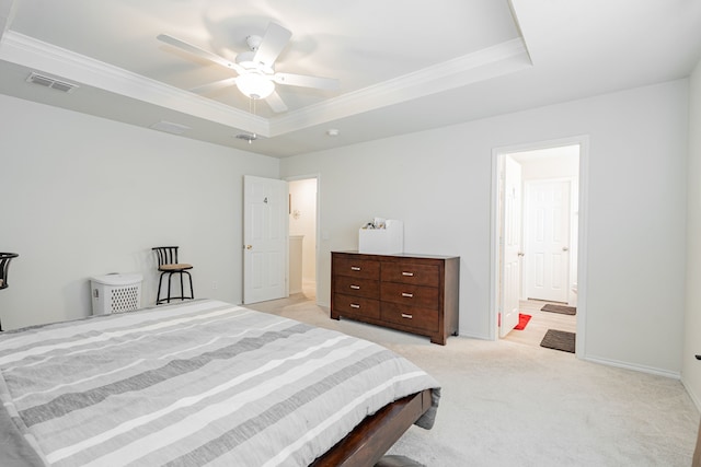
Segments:
[[[701,409],[701,61],[690,78],[687,198],[687,311],[682,381]]]

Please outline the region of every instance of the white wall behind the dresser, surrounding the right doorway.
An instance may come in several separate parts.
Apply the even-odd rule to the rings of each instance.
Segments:
[[[319,301],[330,252],[400,219],[406,252],[461,257],[460,331],[490,338],[492,149],[588,135],[585,358],[678,375],[687,101],[680,80],[283,160],[283,176],[321,174]]]

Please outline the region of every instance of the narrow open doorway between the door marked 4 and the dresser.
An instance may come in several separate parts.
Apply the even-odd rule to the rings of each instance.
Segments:
[[[318,177],[288,179],[289,294],[317,297]]]

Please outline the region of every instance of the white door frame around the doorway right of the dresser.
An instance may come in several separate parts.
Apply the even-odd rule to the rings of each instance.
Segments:
[[[545,140],[539,142],[521,143],[492,149],[492,209],[491,209],[491,235],[490,235],[490,336],[492,340],[498,340],[498,313],[499,313],[499,191],[503,159],[505,154],[513,152],[551,149],[564,145],[579,145],[579,187],[578,187],[578,227],[577,227],[577,339],[575,355],[583,359],[586,355],[586,311],[587,311],[587,244],[588,244],[588,191],[589,191],[589,137],[588,135]]]

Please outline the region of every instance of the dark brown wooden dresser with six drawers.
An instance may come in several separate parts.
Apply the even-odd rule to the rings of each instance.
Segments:
[[[331,317],[430,337],[458,335],[460,258],[331,253]]]

